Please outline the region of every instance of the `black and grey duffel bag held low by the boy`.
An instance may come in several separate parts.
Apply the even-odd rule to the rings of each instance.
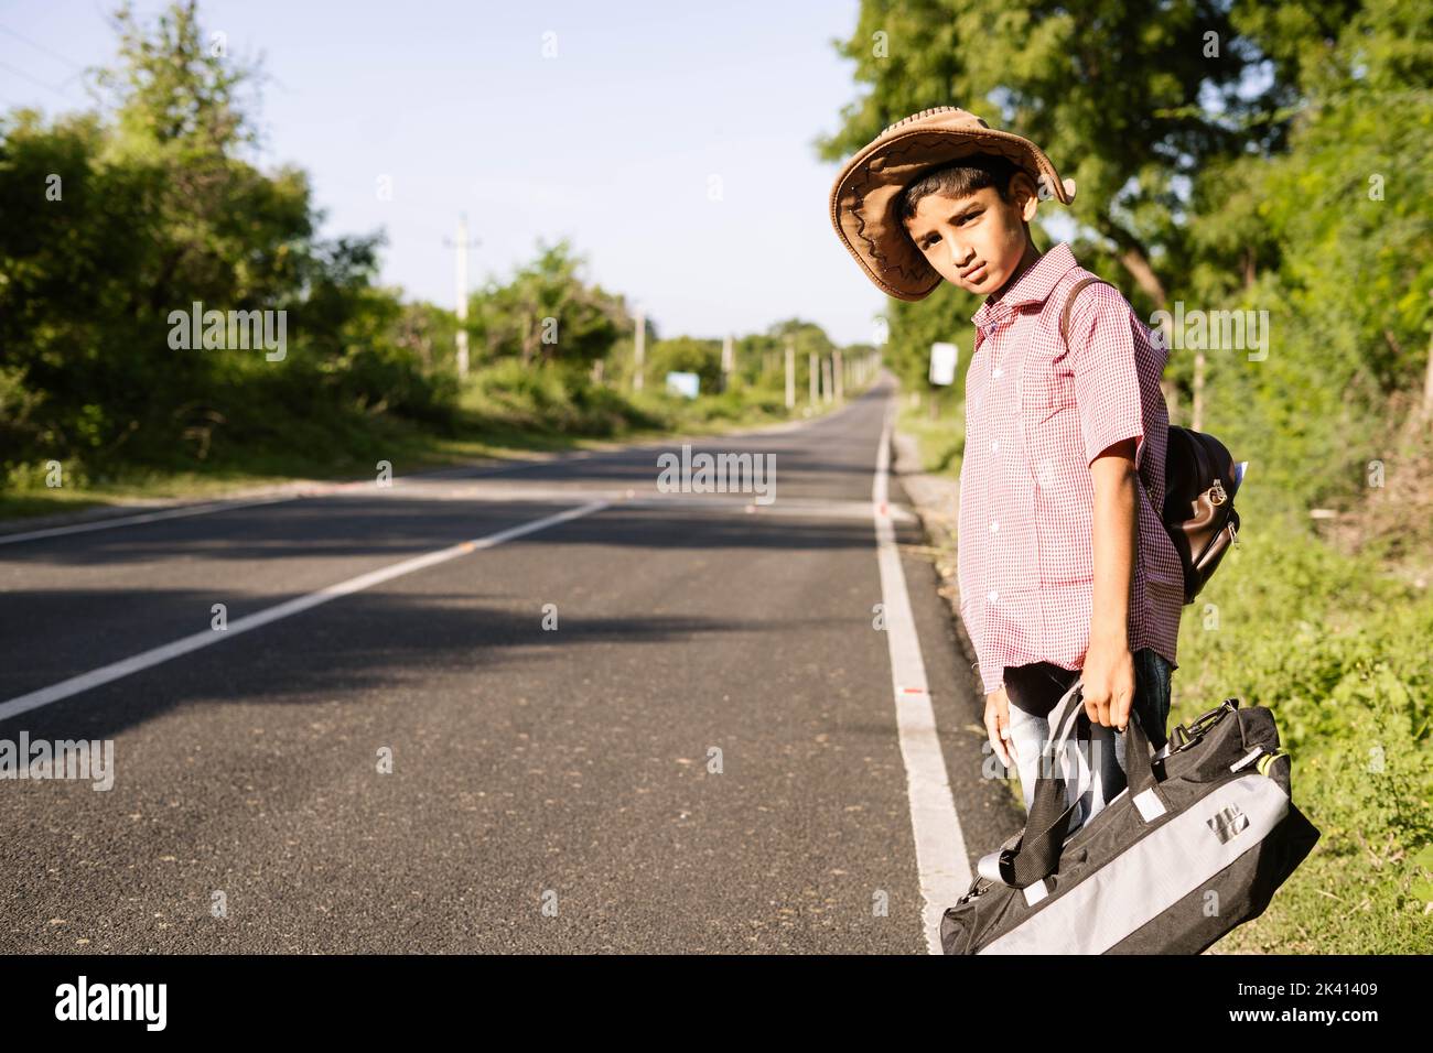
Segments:
[[[1072,734],[1089,736],[1079,686],[1049,716],[1062,774],[1036,782],[1025,830],[946,910],[946,954],[1198,954],[1262,914],[1318,841],[1290,799],[1273,712],[1238,699],[1175,728],[1154,756],[1131,713],[1126,788],[1066,835],[1089,808],[1082,787],[1066,791],[1088,765],[1060,761]]]

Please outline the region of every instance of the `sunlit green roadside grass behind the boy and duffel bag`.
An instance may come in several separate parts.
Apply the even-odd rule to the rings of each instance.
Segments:
[[[934,474],[959,477],[957,411],[903,405]],[[1321,831],[1265,913],[1214,954],[1433,951],[1433,595],[1423,574],[1315,536],[1278,494],[1240,494],[1244,529],[1185,607],[1169,723],[1225,698],[1267,706],[1294,802]],[[1016,781],[1007,785],[1019,801]]]

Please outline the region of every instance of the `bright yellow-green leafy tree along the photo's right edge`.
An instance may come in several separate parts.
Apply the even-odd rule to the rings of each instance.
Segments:
[[[1370,0],[1300,69],[1287,155],[1227,166],[1191,222],[1199,295],[1267,309],[1274,334],[1267,361],[1214,370],[1218,427],[1295,503],[1366,494],[1370,460],[1427,441],[1433,14]],[[1258,272],[1230,281],[1245,246]]]

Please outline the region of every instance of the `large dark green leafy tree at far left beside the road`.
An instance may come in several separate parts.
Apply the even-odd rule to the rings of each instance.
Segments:
[[[373,287],[381,236],[318,239],[304,172],[244,159],[257,66],[205,44],[193,3],[115,21],[100,112],[0,117],[0,468],[172,464],[291,444],[325,414],[434,415],[451,393],[393,337],[400,302]],[[294,347],[281,361],[178,348],[171,315],[195,302],[282,311]]]

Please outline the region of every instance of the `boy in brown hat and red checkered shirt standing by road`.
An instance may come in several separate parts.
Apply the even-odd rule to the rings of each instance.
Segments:
[[[1166,742],[1182,572],[1164,503],[1165,352],[1128,301],[1068,245],[1040,254],[1042,196],[1069,203],[1045,153],[953,106],[896,122],[837,178],[833,222],[867,275],[901,299],[940,281],[986,297],[973,315],[960,473],[960,616],[976,646],[990,745],[1015,756],[1029,809],[1045,719],[1076,681],[1092,723],[1092,795],[1125,787],[1131,709]],[[1048,765],[1049,762],[1046,762]],[[1072,799],[1075,797],[1073,787]]]

